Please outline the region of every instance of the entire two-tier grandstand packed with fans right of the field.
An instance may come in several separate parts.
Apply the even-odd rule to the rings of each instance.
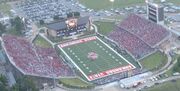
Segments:
[[[155,47],[169,34],[162,26],[130,14],[108,37],[124,47],[136,59],[141,59],[155,51]]]

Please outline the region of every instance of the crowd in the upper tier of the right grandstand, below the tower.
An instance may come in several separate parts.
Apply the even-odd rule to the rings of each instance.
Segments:
[[[130,14],[119,27],[135,34],[152,47],[169,35],[169,32],[161,25],[135,14]]]

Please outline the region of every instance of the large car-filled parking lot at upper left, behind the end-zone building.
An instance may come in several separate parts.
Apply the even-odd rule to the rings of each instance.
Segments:
[[[15,4],[18,14],[39,21],[52,19],[54,16],[65,17],[68,12],[85,12],[85,7],[73,0],[26,0]]]

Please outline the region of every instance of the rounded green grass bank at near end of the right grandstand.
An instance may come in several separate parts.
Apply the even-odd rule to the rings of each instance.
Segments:
[[[167,62],[167,56],[160,51],[140,60],[143,68],[147,70],[155,70],[163,66]]]

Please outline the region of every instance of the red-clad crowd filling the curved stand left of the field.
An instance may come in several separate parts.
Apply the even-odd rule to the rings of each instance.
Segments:
[[[2,39],[10,62],[23,74],[49,78],[74,75],[53,48],[40,48],[12,35]]]

